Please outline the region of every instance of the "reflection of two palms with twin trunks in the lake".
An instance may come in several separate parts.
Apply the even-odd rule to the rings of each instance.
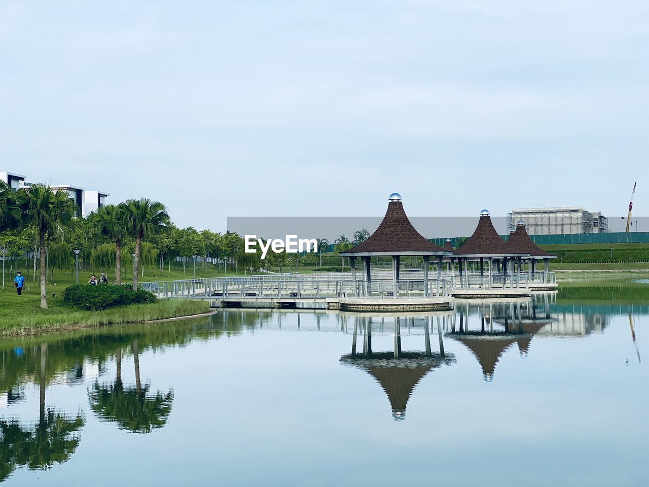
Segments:
[[[121,347],[117,349],[117,373],[114,384],[102,385],[95,381],[88,392],[90,408],[104,421],[117,423],[119,429],[134,433],[148,433],[162,428],[171,413],[173,390],[167,393],[149,393],[151,386],[140,381],[140,351],[138,340],[133,340],[135,388],[125,387],[121,381]]]

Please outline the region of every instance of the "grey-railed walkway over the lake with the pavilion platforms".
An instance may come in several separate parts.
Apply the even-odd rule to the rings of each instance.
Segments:
[[[554,283],[554,274],[516,274],[490,279],[478,273],[441,273],[424,279],[421,269],[403,269],[401,279],[378,271],[375,279],[352,273],[250,275],[172,282],[141,282],[160,299],[190,298],[212,307],[332,308],[343,310],[438,310],[452,308],[452,297],[528,296],[535,286]]]

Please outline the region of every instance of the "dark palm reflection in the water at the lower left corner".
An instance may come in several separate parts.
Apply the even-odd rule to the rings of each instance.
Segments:
[[[79,430],[85,424],[76,416],[45,408],[47,344],[40,346],[40,411],[38,422],[0,419],[0,481],[15,468],[47,469],[69,460],[79,446]]]

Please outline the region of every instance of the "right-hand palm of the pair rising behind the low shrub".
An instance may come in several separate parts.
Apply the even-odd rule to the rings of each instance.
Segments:
[[[123,212],[116,227],[119,231],[135,239],[133,258],[133,290],[138,290],[138,267],[140,265],[140,245],[144,238],[152,238],[167,231],[171,220],[167,209],[159,201],[147,198],[129,199],[119,204]]]

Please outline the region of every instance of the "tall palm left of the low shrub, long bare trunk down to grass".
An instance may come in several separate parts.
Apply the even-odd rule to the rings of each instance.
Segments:
[[[66,191],[53,190],[43,184],[33,184],[18,191],[18,205],[25,219],[38,231],[40,251],[41,308],[47,309],[45,291],[45,238],[63,234],[77,227],[77,206]]]

